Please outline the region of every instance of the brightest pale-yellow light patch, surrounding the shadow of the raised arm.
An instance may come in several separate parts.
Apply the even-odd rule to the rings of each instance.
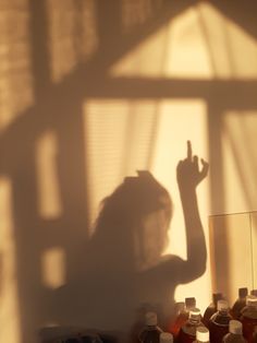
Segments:
[[[160,113],[158,140],[151,170],[167,187],[174,204],[169,234],[170,244],[166,253],[174,253],[186,259],[186,237],[176,185],[176,165],[179,161],[186,157],[187,140],[192,141],[193,154],[209,161],[207,108],[201,99],[167,99],[161,103]],[[206,216],[210,211],[208,180],[205,180],[204,185],[199,187],[198,205],[205,228],[206,244],[208,245],[208,222]],[[182,301],[185,297],[195,296],[197,307],[204,310],[210,295],[209,279],[210,270],[207,267],[204,276],[176,288],[175,299]]]

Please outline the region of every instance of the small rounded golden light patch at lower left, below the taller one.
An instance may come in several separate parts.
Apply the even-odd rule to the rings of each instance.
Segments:
[[[41,257],[42,282],[49,288],[58,288],[65,283],[65,255],[62,248],[46,250]]]

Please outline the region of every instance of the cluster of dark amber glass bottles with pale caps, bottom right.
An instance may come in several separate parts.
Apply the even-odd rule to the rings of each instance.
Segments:
[[[212,303],[201,317],[195,298],[176,303],[176,317],[163,332],[157,324],[157,315],[146,315],[146,327],[138,335],[140,343],[257,343],[257,294],[238,289],[232,306],[222,294],[212,295]]]

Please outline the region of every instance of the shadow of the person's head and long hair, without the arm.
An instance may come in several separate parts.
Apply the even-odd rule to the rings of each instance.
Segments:
[[[138,273],[154,267],[168,243],[171,214],[168,191],[149,172],[126,177],[101,202],[84,268]]]

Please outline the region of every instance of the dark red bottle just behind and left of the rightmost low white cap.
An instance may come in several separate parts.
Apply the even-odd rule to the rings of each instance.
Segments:
[[[217,312],[212,315],[209,320],[211,343],[222,342],[223,336],[229,332],[229,322],[232,319],[227,300],[218,300],[217,309]]]

